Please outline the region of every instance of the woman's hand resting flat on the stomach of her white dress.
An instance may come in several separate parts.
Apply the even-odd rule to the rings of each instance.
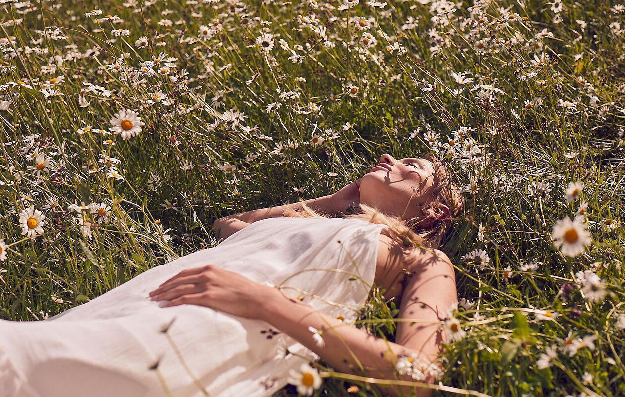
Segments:
[[[163,307],[197,304],[235,316],[259,319],[262,304],[279,291],[214,264],[187,269],[150,293],[154,301],[168,300]]]

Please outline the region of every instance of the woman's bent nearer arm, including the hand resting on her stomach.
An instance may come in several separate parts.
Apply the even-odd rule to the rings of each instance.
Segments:
[[[414,264],[414,275],[404,288],[400,308],[401,318],[408,321],[399,323],[397,343],[371,336],[364,329],[289,298],[279,289],[214,265],[182,271],[150,295],[154,300],[169,300],[167,306],[199,304],[236,316],[262,319],[317,353],[339,371],[410,381],[414,379],[407,374],[395,374],[396,356],[414,353],[426,363],[434,361],[445,340],[440,329],[441,320],[450,304],[457,301],[454,270],[447,263],[449,259],[442,255],[445,259],[424,254],[419,257],[419,263]],[[317,346],[309,326],[322,331],[324,346]],[[434,376],[429,375],[422,381],[432,383],[434,380]],[[382,389],[392,396],[405,396],[414,388],[388,385]],[[417,388],[418,397],[430,394],[431,389]]]

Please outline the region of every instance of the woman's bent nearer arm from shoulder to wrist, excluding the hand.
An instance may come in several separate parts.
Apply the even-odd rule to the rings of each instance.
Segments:
[[[457,301],[454,269],[446,263],[449,259],[445,254],[441,251],[437,254],[446,259],[436,258],[435,254],[422,256],[404,287],[399,318],[415,321],[399,322],[397,343],[371,336],[364,329],[330,318],[284,294],[266,304],[262,319],[319,354],[338,371],[414,381],[408,375],[396,374],[397,355],[416,354],[426,364],[435,361],[446,339],[441,321],[446,309]],[[324,346],[317,346],[309,326],[322,330]],[[432,383],[434,380],[434,376],[428,375],[421,381]],[[392,396],[409,396],[413,389],[397,385],[382,387],[384,393]],[[417,397],[430,394],[431,389],[417,388]]]

